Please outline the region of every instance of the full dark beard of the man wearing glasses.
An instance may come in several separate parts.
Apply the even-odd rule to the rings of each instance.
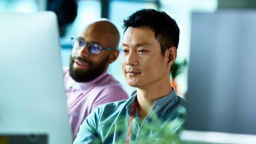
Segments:
[[[74,57],[70,56],[70,63],[69,63],[69,74],[73,80],[76,82],[90,82],[100,76],[104,70],[106,69],[107,62],[109,56],[107,56],[102,62],[99,64],[94,64],[85,58],[81,57],[76,57],[78,60],[81,60],[83,62],[88,63],[88,69],[87,70],[82,70],[78,68],[73,67],[74,63]]]

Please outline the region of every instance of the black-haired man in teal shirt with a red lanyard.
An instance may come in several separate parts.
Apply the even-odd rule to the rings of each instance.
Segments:
[[[186,100],[170,85],[180,30],[165,12],[138,10],[124,20],[121,64],[136,94],[98,107],[74,144],[171,143],[184,124]]]

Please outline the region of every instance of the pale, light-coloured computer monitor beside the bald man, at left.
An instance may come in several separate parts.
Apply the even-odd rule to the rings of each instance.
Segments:
[[[53,12],[0,13],[0,143],[71,144]]]

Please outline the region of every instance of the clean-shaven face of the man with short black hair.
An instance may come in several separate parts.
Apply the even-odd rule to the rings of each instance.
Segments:
[[[166,78],[168,59],[162,56],[154,32],[147,27],[129,27],[123,36],[121,64],[130,86],[146,88],[161,84]],[[166,61],[166,62],[165,62]],[[168,75],[167,75],[168,76]]]

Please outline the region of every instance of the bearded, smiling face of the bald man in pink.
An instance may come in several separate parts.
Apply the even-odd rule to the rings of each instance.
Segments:
[[[89,25],[82,30],[78,38],[85,42],[96,43],[102,47],[111,48],[110,34],[104,33],[94,26]],[[70,76],[76,82],[89,82],[105,72],[109,65],[109,57],[112,51],[101,50],[99,54],[90,54],[87,45],[81,49],[72,49],[70,57]]]

